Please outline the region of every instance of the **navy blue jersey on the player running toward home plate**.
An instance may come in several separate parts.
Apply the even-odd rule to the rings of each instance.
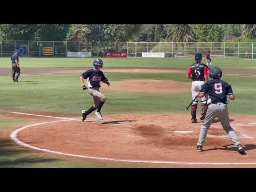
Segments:
[[[95,70],[94,68],[88,69],[85,73],[81,74],[83,78],[87,78],[88,87],[100,87],[100,82],[107,82],[108,79],[102,73],[101,70]]]

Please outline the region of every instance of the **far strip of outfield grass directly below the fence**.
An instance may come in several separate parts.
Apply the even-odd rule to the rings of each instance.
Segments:
[[[20,58],[22,67],[92,67],[95,58]],[[188,68],[193,59],[172,58],[101,58],[106,67],[113,68]],[[205,62],[205,60],[203,60]],[[221,68],[256,69],[255,60],[213,59],[213,66]],[[0,68],[10,67],[10,58],[0,58]]]

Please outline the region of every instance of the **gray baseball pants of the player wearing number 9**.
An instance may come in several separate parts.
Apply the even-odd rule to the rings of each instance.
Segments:
[[[204,124],[201,127],[197,145],[198,146],[204,145],[204,140],[206,138],[207,131],[209,130],[209,127],[215,117],[218,117],[223,129],[227,132],[229,138],[234,143],[234,145],[237,146],[241,144],[241,142],[238,140],[236,136],[235,131],[229,124],[227,105],[223,103],[218,103],[218,104],[211,103],[207,109],[206,116],[204,119]]]

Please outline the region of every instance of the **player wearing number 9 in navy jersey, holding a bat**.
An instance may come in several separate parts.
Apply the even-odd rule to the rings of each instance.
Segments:
[[[209,76],[213,79],[209,82],[206,82],[202,86],[201,91],[197,94],[197,97],[199,98],[204,97],[206,94],[209,96],[209,99],[207,100],[209,107],[205,115],[204,123],[201,127],[199,139],[197,142],[197,151],[201,152],[203,150],[207,131],[209,130],[213,119],[217,117],[223,129],[227,132],[231,141],[237,147],[238,152],[245,154],[241,142],[238,140],[236,133],[229,124],[227,95],[229,95],[230,100],[235,99],[231,85],[220,79],[222,76],[222,71],[218,67],[211,68]]]

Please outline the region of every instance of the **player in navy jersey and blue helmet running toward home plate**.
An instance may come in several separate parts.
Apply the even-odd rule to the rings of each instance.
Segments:
[[[88,69],[85,73],[81,74],[80,80],[82,83],[83,90],[89,89],[89,94],[93,97],[94,106],[90,107],[88,110],[82,110],[82,122],[86,119],[86,116],[92,113],[92,111],[98,109],[95,115],[102,120],[101,108],[106,102],[106,97],[100,92],[100,82],[106,83],[110,86],[108,79],[100,70],[103,66],[103,61],[101,59],[95,59],[93,61],[94,68]],[[87,86],[84,84],[84,79],[87,78]]]

